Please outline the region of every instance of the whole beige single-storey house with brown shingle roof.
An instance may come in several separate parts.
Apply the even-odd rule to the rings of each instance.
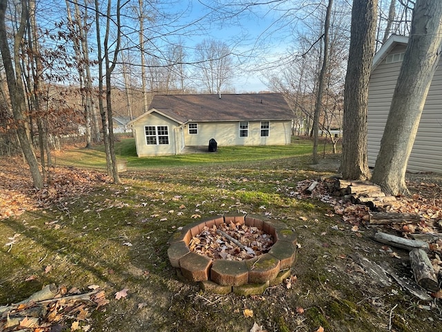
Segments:
[[[180,154],[184,147],[286,145],[293,113],[279,93],[155,95],[148,111],[128,123],[137,155]]]

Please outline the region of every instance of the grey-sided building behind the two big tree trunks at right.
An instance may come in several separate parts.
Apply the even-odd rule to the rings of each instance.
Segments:
[[[374,56],[368,95],[368,163],[374,167],[387,122],[392,95],[403,61],[407,37],[392,35]],[[409,172],[442,173],[442,67],[427,95],[421,122],[408,160]]]

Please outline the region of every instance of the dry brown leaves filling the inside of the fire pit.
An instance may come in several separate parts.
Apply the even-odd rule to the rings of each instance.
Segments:
[[[204,227],[200,234],[192,237],[189,248],[192,252],[211,257],[242,261],[262,255],[273,246],[273,237],[257,227],[241,223],[222,223],[211,228]]]

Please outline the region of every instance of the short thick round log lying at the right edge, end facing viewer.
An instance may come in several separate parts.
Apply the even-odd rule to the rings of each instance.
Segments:
[[[410,264],[412,266],[414,279],[417,284],[431,292],[439,291],[436,273],[427,256],[422,249],[413,249],[410,251]]]

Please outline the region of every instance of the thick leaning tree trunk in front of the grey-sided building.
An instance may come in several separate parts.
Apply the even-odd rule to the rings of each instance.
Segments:
[[[405,171],[441,55],[442,2],[418,0],[372,181],[389,194],[408,194]]]

